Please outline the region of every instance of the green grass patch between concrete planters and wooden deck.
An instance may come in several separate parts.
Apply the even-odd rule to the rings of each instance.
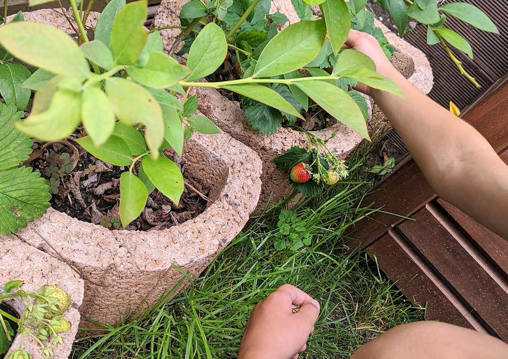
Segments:
[[[367,151],[368,152],[368,151]],[[321,303],[321,315],[302,358],[349,357],[363,343],[396,325],[423,318],[365,254],[340,254],[344,232],[372,210],[358,203],[372,178],[365,154],[350,163],[352,178],[293,210],[312,235],[304,250],[276,252],[284,203],[258,217],[178,298],[161,300],[107,334],[74,345],[72,358],[236,357],[252,308],[283,283]],[[281,343],[283,345],[283,343]]]

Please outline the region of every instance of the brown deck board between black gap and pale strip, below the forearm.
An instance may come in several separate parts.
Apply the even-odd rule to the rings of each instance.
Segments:
[[[412,218],[416,221],[405,221],[399,229],[487,324],[508,340],[508,283],[496,277],[490,264],[466,241],[454,237],[427,208]]]

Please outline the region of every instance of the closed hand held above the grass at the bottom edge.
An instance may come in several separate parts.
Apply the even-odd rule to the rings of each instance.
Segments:
[[[295,305],[300,308],[293,313]],[[239,359],[291,359],[307,347],[320,305],[291,284],[280,286],[252,310]]]

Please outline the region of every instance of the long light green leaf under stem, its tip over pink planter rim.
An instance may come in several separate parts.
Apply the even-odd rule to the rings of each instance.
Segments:
[[[345,91],[324,81],[302,81],[296,85],[338,121],[370,139],[360,108]]]

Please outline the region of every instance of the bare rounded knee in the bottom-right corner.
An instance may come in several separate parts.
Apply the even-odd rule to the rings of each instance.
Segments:
[[[367,343],[352,359],[508,358],[508,345],[492,336],[438,321],[404,324]]]

